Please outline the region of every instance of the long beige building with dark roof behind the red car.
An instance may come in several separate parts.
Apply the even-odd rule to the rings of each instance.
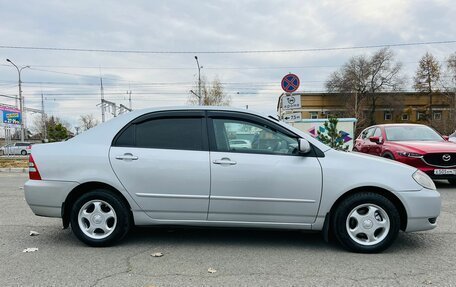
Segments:
[[[360,126],[368,126],[370,121],[371,98],[355,94],[340,93],[295,93],[301,98],[301,108],[293,113],[301,113],[302,119],[337,117],[356,117]],[[279,99],[278,112],[284,115],[290,111],[282,109]],[[384,123],[421,123],[434,126],[442,133],[451,133],[456,128],[456,104],[454,94],[433,93],[432,105],[429,94],[416,92],[378,93],[373,119],[375,124]],[[432,106],[432,116],[431,116]],[[358,112],[355,112],[358,107]]]

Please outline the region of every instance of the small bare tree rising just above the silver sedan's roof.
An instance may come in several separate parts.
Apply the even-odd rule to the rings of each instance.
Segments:
[[[207,84],[205,79],[201,79],[201,98],[203,106],[229,106],[231,104],[231,97],[224,92],[222,83],[218,79],[211,84]],[[192,94],[188,103],[198,105],[198,100],[198,97]]]

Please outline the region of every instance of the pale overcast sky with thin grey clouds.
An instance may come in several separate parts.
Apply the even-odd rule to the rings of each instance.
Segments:
[[[0,46],[195,52],[101,53],[0,48],[0,94],[16,95],[22,73],[26,106],[78,125],[101,119],[105,98],[133,108],[184,105],[198,70],[218,78],[232,105],[275,113],[280,81],[301,78],[300,91],[323,91],[328,75],[350,57],[377,49],[292,53],[202,53],[351,47],[456,40],[456,5],[435,1],[0,1]],[[456,44],[392,48],[408,76],[429,51],[442,63]],[[200,52],[200,53],[197,53]],[[0,96],[0,103],[13,104]],[[29,118],[32,118],[29,115]]]

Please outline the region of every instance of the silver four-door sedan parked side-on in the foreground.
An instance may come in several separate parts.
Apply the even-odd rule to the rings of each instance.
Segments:
[[[251,149],[229,136],[254,130]],[[255,143],[255,144],[254,144]],[[137,110],[66,142],[37,145],[25,197],[81,241],[133,226],[319,230],[380,252],[399,230],[436,227],[440,195],[416,168],[336,151],[285,123],[227,107]]]

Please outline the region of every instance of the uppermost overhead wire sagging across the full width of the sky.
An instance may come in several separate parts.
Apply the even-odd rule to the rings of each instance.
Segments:
[[[410,47],[410,46],[423,46],[423,45],[444,45],[444,44],[454,44],[454,43],[456,43],[456,40],[428,41],[428,42],[409,42],[409,43],[391,43],[391,44],[360,45],[360,46],[347,46],[347,47],[308,48],[308,49],[225,50],[225,51],[115,50],[115,49],[60,48],[60,47],[14,46],[14,45],[0,45],[0,49],[65,51],[65,52],[128,53],[128,54],[254,54],[254,53],[322,52],[322,51],[338,51],[338,50],[373,49],[373,48],[384,48],[384,47]]]

